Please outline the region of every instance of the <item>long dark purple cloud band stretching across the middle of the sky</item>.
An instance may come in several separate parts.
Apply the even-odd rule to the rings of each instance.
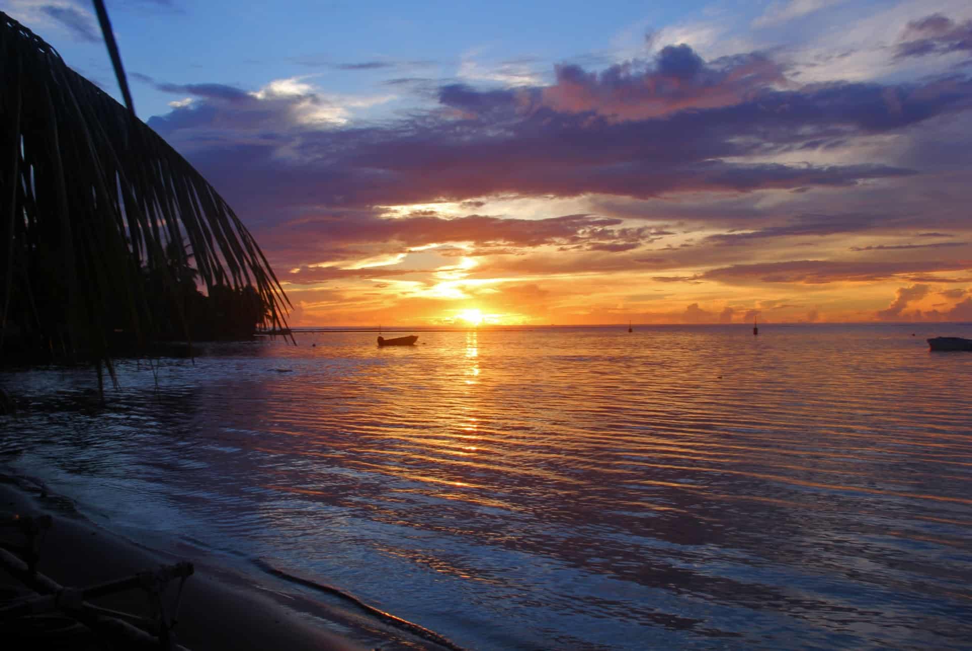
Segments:
[[[674,66],[670,76],[692,70],[684,62],[669,65]],[[284,192],[275,193],[274,206],[281,199],[366,206],[497,193],[650,198],[707,190],[847,187],[914,172],[884,163],[724,160],[783,151],[837,133],[846,139],[853,132],[902,129],[959,110],[972,99],[967,81],[913,87],[842,84],[762,90],[758,97],[679,111],[665,119],[614,121],[538,105],[542,89],[480,91],[451,85],[442,87],[438,98],[458,115],[430,113],[392,125],[321,129],[294,122],[295,107],[308,101],[326,105],[320,97],[257,99],[223,85],[163,88],[205,101],[153,118],[150,125],[182,145],[207,176],[219,181],[233,169],[226,187],[239,189],[237,202],[260,204],[251,191],[260,189],[265,197],[261,186],[280,187]],[[894,101],[888,99],[892,96]],[[281,149],[296,161],[278,156]],[[233,168],[244,160],[243,169]]]

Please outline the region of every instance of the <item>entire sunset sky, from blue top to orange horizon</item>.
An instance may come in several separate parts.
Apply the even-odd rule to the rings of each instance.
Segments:
[[[972,321],[968,0],[247,5],[108,3],[294,325]]]

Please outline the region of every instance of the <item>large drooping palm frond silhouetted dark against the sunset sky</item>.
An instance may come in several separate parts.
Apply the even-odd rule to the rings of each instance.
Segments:
[[[108,359],[116,329],[151,341],[142,270],[163,268],[167,250],[186,264],[193,258],[209,290],[253,285],[268,325],[286,329],[290,303],[226,200],[154,130],[3,13],[0,210],[5,331],[40,333],[95,361]]]

